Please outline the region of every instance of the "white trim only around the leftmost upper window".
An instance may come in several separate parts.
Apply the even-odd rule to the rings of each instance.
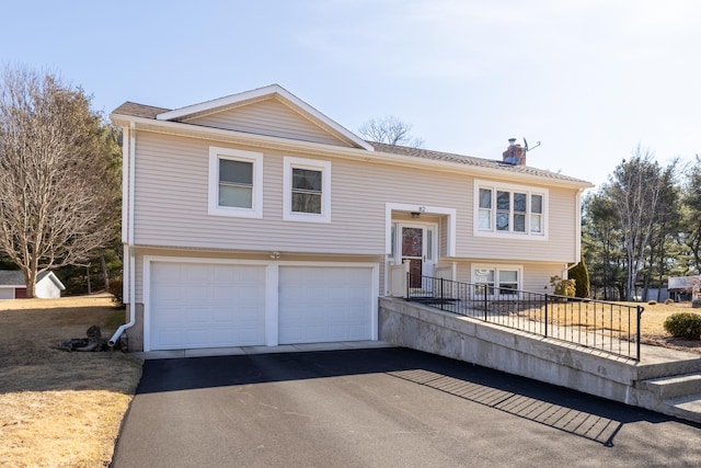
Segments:
[[[219,160],[229,159],[253,164],[252,207],[238,208],[219,205]],[[233,216],[240,218],[263,217],[263,153],[243,151],[240,149],[209,147],[209,183],[208,183],[209,214],[214,216]]]

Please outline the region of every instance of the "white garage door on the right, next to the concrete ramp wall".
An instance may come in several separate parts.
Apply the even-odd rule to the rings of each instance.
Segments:
[[[372,269],[280,266],[280,344],[371,339]]]

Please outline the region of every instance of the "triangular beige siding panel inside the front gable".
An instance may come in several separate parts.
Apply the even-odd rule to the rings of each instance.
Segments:
[[[251,105],[196,117],[186,122],[194,125],[256,135],[349,146],[276,99],[267,99]]]

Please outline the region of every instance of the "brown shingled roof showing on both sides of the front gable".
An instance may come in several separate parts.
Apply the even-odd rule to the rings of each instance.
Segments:
[[[138,104],[135,102],[127,101],[120,106],[118,106],[117,109],[115,109],[113,113],[119,114],[119,115],[128,115],[133,117],[156,119],[156,116],[158,114],[162,114],[169,111],[171,110],[164,109],[164,107],[156,107],[152,105]],[[507,171],[512,173],[536,175],[539,178],[548,178],[548,179],[552,179],[553,181],[577,182],[583,184],[588,183],[582,179],[571,178],[567,175],[559,174],[556,172],[545,171],[545,170],[532,168],[529,165],[515,165],[515,164],[510,164],[508,162],[504,162],[495,159],[475,158],[471,156],[457,155],[452,152],[433,151],[433,150],[422,149],[422,148],[387,145],[387,144],[377,142],[377,141],[367,141],[367,142],[375,148],[376,152],[400,155],[400,156],[406,156],[410,158],[429,159],[434,161],[444,161],[444,162],[450,162],[450,163],[461,164],[461,165],[472,165],[475,168],[497,169],[499,171]]]

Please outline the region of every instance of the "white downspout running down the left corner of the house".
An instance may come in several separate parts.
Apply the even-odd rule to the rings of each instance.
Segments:
[[[127,194],[127,197],[125,199],[125,203],[123,204],[123,209],[127,208],[127,216],[123,216],[122,218],[122,222],[126,225],[126,229],[123,226],[122,229],[122,235],[123,235],[123,241],[126,240],[126,248],[125,248],[125,270],[127,271],[127,287],[125,288],[124,293],[128,292],[128,297],[127,297],[127,301],[129,304],[129,321],[127,323],[124,323],[122,326],[119,326],[119,328],[117,329],[117,331],[114,332],[114,334],[112,335],[112,338],[110,339],[110,341],[107,342],[107,345],[110,346],[114,346],[115,343],[117,342],[117,340],[119,340],[119,336],[122,336],[122,333],[124,333],[124,331],[128,328],[134,327],[134,324],[136,323],[136,254],[134,253],[134,193],[135,193],[135,175],[136,175],[136,171],[135,171],[135,160],[136,160],[136,132],[135,132],[135,123],[131,122],[129,125],[129,138],[128,140],[125,138],[124,139],[124,145],[128,145],[128,151],[127,148],[125,148],[123,150],[123,158],[124,158],[124,164],[123,164],[123,173],[128,174],[127,175],[127,185],[123,185],[123,195]],[[128,141],[128,144],[127,144]],[[125,168],[125,165],[127,165],[127,168]],[[126,171],[124,169],[127,169]],[[123,175],[124,176],[124,175]],[[128,192],[127,192],[128,190]],[[125,239],[125,235],[126,235],[126,239]]]

